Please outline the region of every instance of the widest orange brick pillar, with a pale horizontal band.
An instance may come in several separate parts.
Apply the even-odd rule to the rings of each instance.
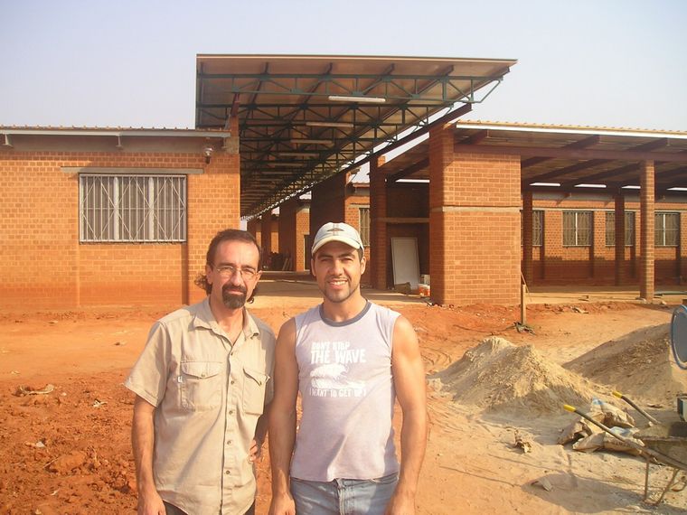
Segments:
[[[454,154],[429,132],[429,273],[438,304],[520,302],[519,155]]]

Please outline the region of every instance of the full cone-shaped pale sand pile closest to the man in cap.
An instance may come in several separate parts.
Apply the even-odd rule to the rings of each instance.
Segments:
[[[598,397],[595,385],[532,345],[517,347],[494,336],[431,379],[454,400],[486,409],[560,412],[564,404],[588,406]]]

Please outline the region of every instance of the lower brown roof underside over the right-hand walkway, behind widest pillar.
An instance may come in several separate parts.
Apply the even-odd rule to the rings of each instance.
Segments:
[[[657,194],[687,188],[687,133],[459,122],[454,141],[456,152],[520,155],[522,191],[600,191],[604,186],[603,191],[615,193],[639,185],[647,160],[654,161]],[[381,171],[390,181],[427,180],[428,142]]]

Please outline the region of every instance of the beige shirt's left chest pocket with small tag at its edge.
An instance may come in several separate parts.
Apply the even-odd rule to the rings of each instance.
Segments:
[[[181,363],[182,407],[189,411],[207,411],[221,406],[224,389],[221,374],[223,363],[218,361],[183,361]]]

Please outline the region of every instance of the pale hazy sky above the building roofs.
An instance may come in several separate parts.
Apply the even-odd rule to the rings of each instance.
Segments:
[[[517,59],[469,119],[687,131],[683,0],[0,0],[0,126],[193,127],[197,53]]]

